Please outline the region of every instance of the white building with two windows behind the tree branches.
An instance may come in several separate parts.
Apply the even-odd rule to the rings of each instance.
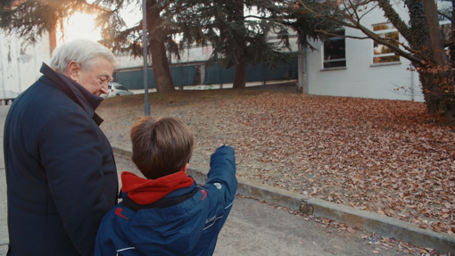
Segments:
[[[403,21],[409,21],[409,14],[402,4],[394,4],[393,7]],[[381,9],[369,12],[361,21],[364,27],[386,37],[399,38],[406,44],[405,39],[385,19]],[[339,32],[365,37],[358,29],[346,28]],[[411,66],[407,59],[371,39],[331,39],[324,43],[315,42],[313,46],[318,51],[308,53],[300,62],[303,66],[301,86],[305,93],[424,101],[418,73],[409,70]]]

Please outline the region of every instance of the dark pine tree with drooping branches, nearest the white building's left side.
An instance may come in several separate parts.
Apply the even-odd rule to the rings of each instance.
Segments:
[[[248,64],[276,67],[291,60],[294,54],[290,53],[290,30],[299,32],[303,45],[310,45],[308,40],[326,37],[317,29],[336,26],[295,9],[294,4],[287,0],[180,0],[175,8],[166,11],[163,19],[178,24],[180,49],[211,44],[209,64],[236,66],[233,87],[242,89]],[[308,22],[311,25],[305,27],[303,23]],[[271,41],[270,37],[277,40]]]

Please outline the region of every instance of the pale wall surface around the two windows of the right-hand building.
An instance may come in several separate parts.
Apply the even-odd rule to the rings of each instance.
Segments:
[[[403,21],[408,22],[409,16],[402,4],[395,5],[395,10],[401,14]],[[376,9],[362,19],[361,24],[371,28],[374,24],[385,23],[383,12]],[[365,37],[357,29],[345,29],[345,35]],[[335,95],[350,97],[365,97],[376,99],[396,99],[423,101],[421,89],[418,86],[418,74],[409,71],[410,62],[401,57],[399,64],[373,65],[373,41],[371,39],[346,38],[346,69],[324,70],[323,47],[321,42],[315,42],[318,51],[307,55],[308,63],[308,93],[310,95]],[[400,41],[405,41],[400,37]],[[411,81],[413,83],[411,83]],[[404,87],[398,92],[394,88]],[[410,87],[414,87],[414,94]],[[404,93],[404,94],[403,94]]]

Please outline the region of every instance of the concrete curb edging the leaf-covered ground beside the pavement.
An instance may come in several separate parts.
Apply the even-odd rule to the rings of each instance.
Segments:
[[[131,157],[131,152],[118,146],[112,146],[113,153],[123,157]],[[188,169],[187,173],[194,180],[203,184],[207,180],[208,170]],[[335,202],[327,202],[318,198],[308,198],[302,194],[266,186],[244,178],[237,178],[237,193],[252,196],[260,200],[275,203],[290,209],[303,211],[316,217],[332,219],[350,227],[365,230],[368,233],[393,237],[403,242],[409,242],[421,247],[433,248],[441,253],[455,253],[455,235],[436,233],[429,229],[420,228],[415,224],[385,217],[377,213],[360,211]]]

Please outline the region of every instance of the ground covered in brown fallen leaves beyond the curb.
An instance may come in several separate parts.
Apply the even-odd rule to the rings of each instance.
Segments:
[[[105,100],[98,113],[113,145],[130,146],[144,95]],[[191,166],[208,169],[225,143],[240,177],[455,232],[455,130],[424,103],[261,91],[151,94],[153,117],[193,129]]]

